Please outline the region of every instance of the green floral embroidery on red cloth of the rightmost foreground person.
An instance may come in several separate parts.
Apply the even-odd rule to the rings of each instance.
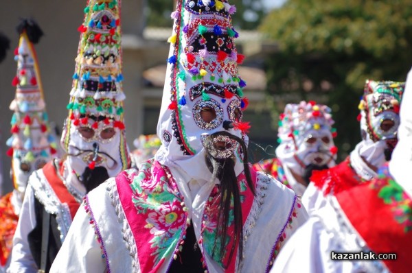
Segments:
[[[391,210],[396,222],[404,227],[404,233],[408,233],[412,230],[411,198],[389,174],[387,165],[380,169],[378,178],[371,183],[371,188],[378,190],[378,197],[392,207]]]

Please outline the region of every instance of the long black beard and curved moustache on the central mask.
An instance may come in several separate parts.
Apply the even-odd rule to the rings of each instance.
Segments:
[[[238,141],[242,150],[244,152],[243,164],[244,164],[244,175],[246,176],[247,185],[251,189],[253,195],[255,195],[255,189],[253,186],[251,173],[249,170],[249,163],[247,161],[247,146],[244,141],[238,137],[235,137],[227,132],[218,132],[216,134],[226,134]],[[212,139],[213,135],[210,136]],[[233,245],[231,246],[229,252],[229,260],[225,268],[229,265],[231,259],[233,258],[233,253],[236,250],[236,246],[239,246],[238,257],[239,261],[242,261],[243,253],[243,230],[242,230],[242,206],[240,203],[240,189],[238,185],[238,178],[235,173],[235,160],[234,158],[214,158],[211,156],[209,151],[206,150],[206,164],[211,171],[211,182],[213,183],[216,178],[220,181],[220,204],[217,222],[217,232],[214,241],[214,248],[212,250],[212,256],[220,255],[225,253],[225,243],[229,240],[229,235],[227,235],[227,227],[229,225],[229,213],[231,209],[231,200],[233,198],[233,220],[234,220],[234,235],[233,235]],[[220,246],[218,242],[220,241]],[[218,249],[216,249],[218,247]]]

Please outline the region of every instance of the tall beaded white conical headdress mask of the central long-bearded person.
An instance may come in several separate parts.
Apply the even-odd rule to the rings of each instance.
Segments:
[[[238,75],[244,56],[234,43],[238,37],[231,24],[234,12],[229,1],[201,0],[178,0],[172,12],[174,30],[168,40],[168,72],[157,126],[163,146],[157,160],[166,165],[192,161],[198,168],[186,169],[193,177],[205,178],[201,170],[207,169],[202,135],[227,130],[247,139],[249,125],[242,122],[248,104],[242,92],[246,83]],[[213,112],[211,121],[202,118],[204,110]],[[224,128],[230,122],[231,129]]]

